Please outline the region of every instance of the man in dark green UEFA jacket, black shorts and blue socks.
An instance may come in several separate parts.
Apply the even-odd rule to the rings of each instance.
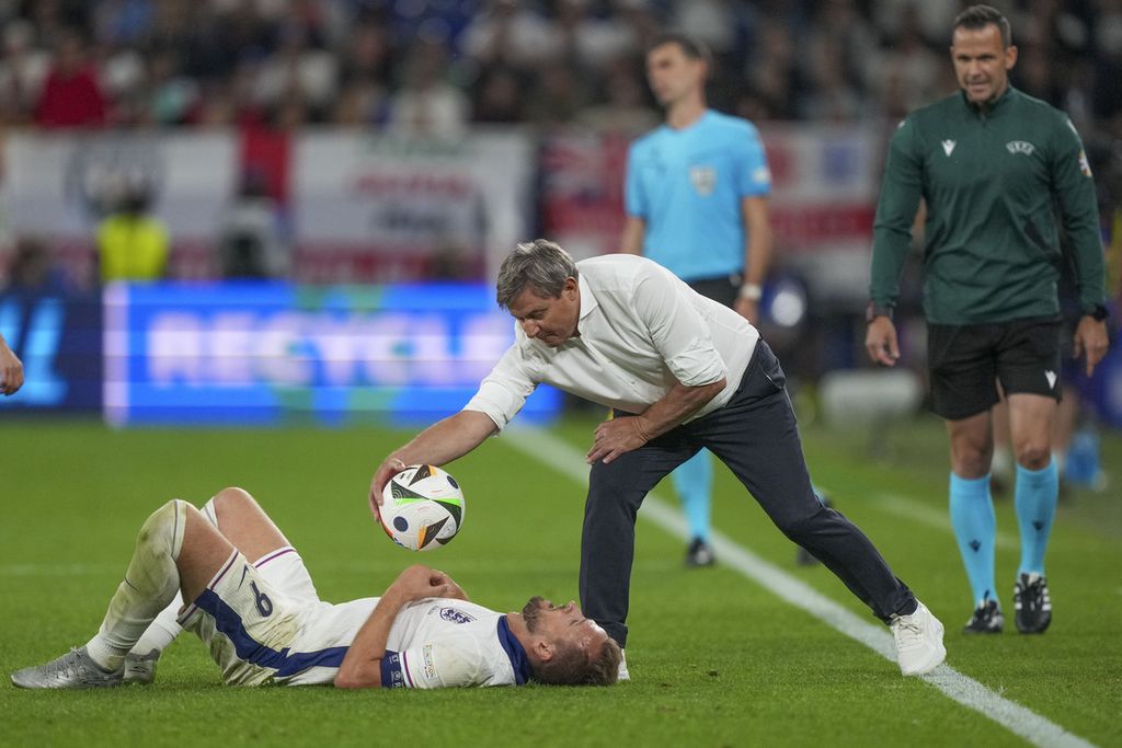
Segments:
[[[1045,551],[1058,492],[1058,224],[1075,253],[1083,306],[1074,351],[1086,355],[1089,375],[1107,344],[1095,186],[1070,120],[1009,85],[1017,47],[999,11],[963,11],[950,57],[962,91],[912,112],[892,138],[873,228],[865,347],[885,366],[900,355],[892,312],[922,197],[931,403],[950,438],[950,521],[974,604],[964,630],[997,634],[1004,626],[990,496],[990,408],[1000,381],[1018,463],[1015,621],[1022,634],[1040,634],[1051,622]]]

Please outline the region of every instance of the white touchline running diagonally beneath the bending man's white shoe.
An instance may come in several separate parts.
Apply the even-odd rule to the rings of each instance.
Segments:
[[[505,443],[578,482],[588,480],[588,465],[583,455],[568,442],[546,431],[519,428],[511,438],[505,440]],[[689,539],[689,530],[681,514],[653,493],[643,501],[638,516],[659,525],[671,535],[683,541]],[[714,533],[712,542],[721,563],[726,566],[735,569],[776,597],[809,612],[893,664],[896,662],[892,635],[883,626],[874,626],[863,620],[856,613],[720,533]],[[1094,748],[1094,744],[1032,710],[997,695],[947,664],[939,665],[931,673],[920,677],[949,699],[967,709],[973,709],[1034,746]]]

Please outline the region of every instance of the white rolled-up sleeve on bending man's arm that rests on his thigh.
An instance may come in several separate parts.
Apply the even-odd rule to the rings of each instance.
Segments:
[[[711,385],[728,377],[728,367],[684,290],[669,270],[652,267],[636,281],[635,313],[678,381],[687,387]]]

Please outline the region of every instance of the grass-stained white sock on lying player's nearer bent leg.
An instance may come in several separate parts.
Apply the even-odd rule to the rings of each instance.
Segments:
[[[107,671],[121,666],[125,655],[180,589],[175,560],[183,547],[186,507],[173,499],[140,527],[125,579],[109,601],[96,636],[85,645],[93,662]]]

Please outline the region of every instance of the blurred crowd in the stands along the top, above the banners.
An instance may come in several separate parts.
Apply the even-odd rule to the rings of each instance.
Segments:
[[[1122,0],[993,0],[1015,84],[1122,137]],[[11,126],[294,128],[454,137],[471,123],[659,121],[643,75],[673,27],[710,101],[756,121],[896,118],[953,91],[955,0],[0,0]]]

